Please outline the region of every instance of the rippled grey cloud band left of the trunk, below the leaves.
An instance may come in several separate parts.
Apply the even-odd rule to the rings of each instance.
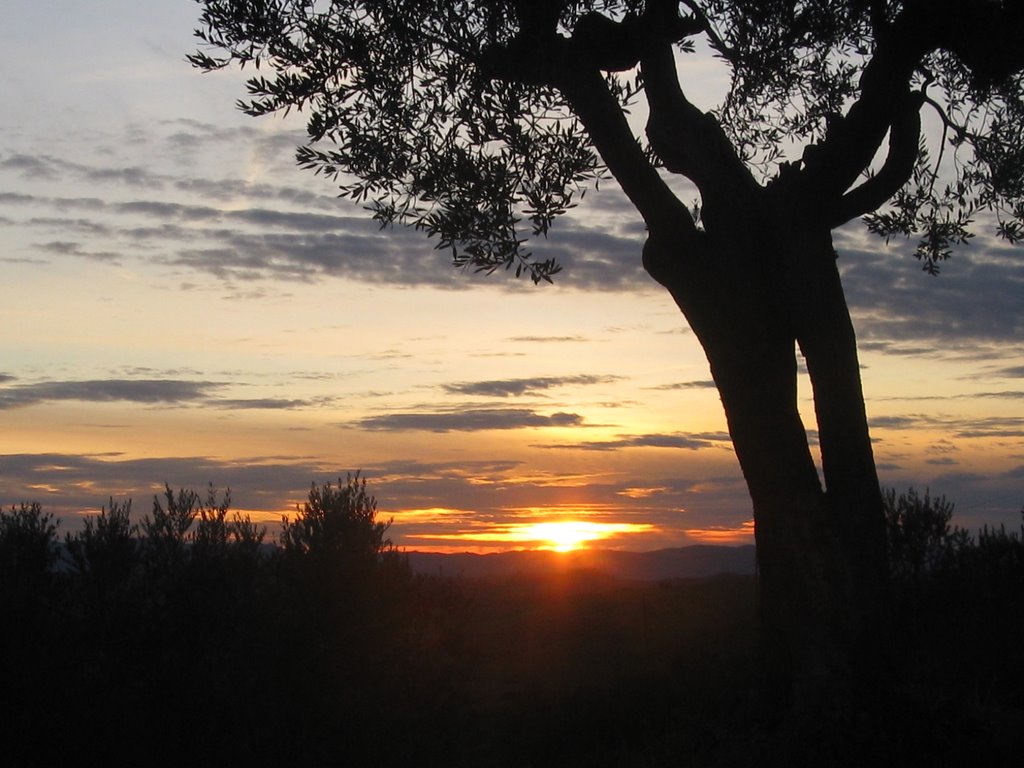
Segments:
[[[214,143],[224,140],[223,131],[210,126],[188,126],[187,131],[197,134],[191,143],[206,142],[208,139],[200,134],[207,130],[213,134]],[[234,135],[236,131],[228,130],[227,134]],[[247,133],[246,139],[252,140],[256,135]],[[180,135],[178,140],[189,143]],[[99,253],[111,259],[136,254],[130,244],[117,242],[127,237],[133,242],[146,240],[159,247],[158,261],[166,265],[207,272],[221,280],[308,282],[334,275],[383,285],[452,289],[468,288],[484,280],[488,285],[509,289],[525,285],[511,279],[488,280],[471,271],[454,274],[446,255],[438,252],[435,242],[422,233],[403,227],[381,233],[369,214],[357,210],[354,204],[346,205],[296,187],[216,180],[202,175],[188,177],[184,175],[187,168],[180,165],[175,170],[180,175],[175,177],[147,173],[132,164],[92,167],[49,155],[20,155],[8,158],[5,165],[0,164],[0,171],[33,173],[36,178],[48,177],[47,173],[55,169],[63,174],[61,178],[72,175],[89,184],[94,197],[4,194],[0,195],[0,202],[59,213],[76,212],[65,217],[36,215],[31,221],[20,222],[23,226],[48,227],[61,233],[66,231],[60,226],[61,219],[85,230],[90,219],[82,214],[101,218],[94,220],[92,226],[96,234],[100,228],[106,230]],[[311,185],[315,183],[310,179]],[[114,193],[105,194],[119,186],[146,188],[155,197],[120,202],[114,199]],[[232,203],[226,210],[225,200]],[[268,207],[268,202],[306,210]],[[311,213],[309,208],[328,212]],[[154,225],[137,226],[122,221],[128,217],[150,219]],[[203,248],[191,245],[200,242],[213,245]],[[640,265],[640,246],[632,232],[620,237],[566,220],[560,224],[557,238],[539,241],[535,249],[538,255],[554,257],[563,264],[562,286],[623,291],[652,287]],[[115,251],[106,256],[112,248]],[[77,243],[63,253],[86,256],[97,251],[90,244]]]

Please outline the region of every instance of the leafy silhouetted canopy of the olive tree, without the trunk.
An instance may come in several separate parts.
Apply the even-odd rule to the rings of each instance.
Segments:
[[[729,68],[712,117],[730,152],[761,184],[800,173],[814,182],[808,200],[846,201],[822,214],[827,226],[864,215],[887,239],[918,238],[930,271],[982,211],[1002,238],[1024,239],[1017,0],[197,2],[191,62],[252,68],[240,106],[307,116],[301,166],[382,226],[436,238],[459,266],[535,282],[558,271],[528,243],[609,170],[622,182],[628,148],[580,114],[573,89],[601,73],[618,111],[646,99],[656,118],[664,74],[650,51],[663,45],[678,58],[700,44]],[[676,106],[688,106],[681,86]],[[937,140],[922,135],[923,112]],[[651,136],[637,138],[644,162],[690,177],[707,205],[713,184]]]

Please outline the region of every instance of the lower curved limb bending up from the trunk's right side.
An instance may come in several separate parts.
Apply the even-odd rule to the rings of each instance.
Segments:
[[[923,102],[923,94],[907,94],[889,131],[889,154],[885,163],[877,174],[843,196],[830,215],[830,227],[877,210],[910,179],[921,140]]]

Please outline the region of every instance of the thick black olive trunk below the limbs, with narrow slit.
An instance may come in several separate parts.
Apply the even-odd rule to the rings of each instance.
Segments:
[[[768,687],[776,696],[834,691],[870,664],[864,651],[884,604],[885,540],[830,238],[827,229],[816,240],[792,230],[765,237],[750,220],[706,234],[702,252],[683,260],[652,231],[644,263],[705,348],[751,493]],[[798,342],[827,489],[798,411]]]

